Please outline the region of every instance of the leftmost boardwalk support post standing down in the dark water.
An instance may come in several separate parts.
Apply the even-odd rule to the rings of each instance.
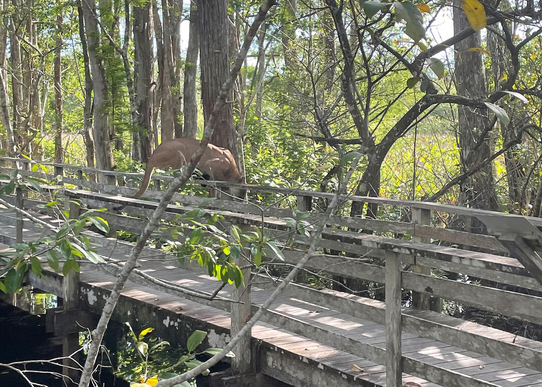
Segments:
[[[74,203],[69,202],[69,215],[72,219],[79,217],[81,207]],[[62,308],[64,311],[76,310],[79,307],[79,273],[76,271],[70,271],[62,280]],[[74,385],[78,382],[80,372],[77,363],[79,362],[78,354],[72,356],[72,354],[79,350],[79,333],[69,333],[62,337],[62,375],[64,376],[64,383],[66,385]]]

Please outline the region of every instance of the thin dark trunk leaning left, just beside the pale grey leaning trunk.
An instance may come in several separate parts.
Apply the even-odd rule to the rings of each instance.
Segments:
[[[92,136],[92,77],[81,0],[78,0],[77,2],[77,12],[79,20],[79,38],[81,39],[81,51],[83,53],[83,63],[85,65],[85,90],[83,90],[83,94],[85,95],[85,106],[83,107],[83,136],[85,137],[85,146],[87,148],[87,167],[94,168],[94,140]],[[95,175],[91,174],[91,179],[95,180]]]

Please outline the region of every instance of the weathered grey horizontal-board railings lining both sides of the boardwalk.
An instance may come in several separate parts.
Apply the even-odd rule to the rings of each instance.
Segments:
[[[60,174],[60,168],[62,168],[62,174],[64,174],[62,183],[64,185],[84,188],[71,189],[58,186],[54,188],[62,189],[63,194],[67,197],[76,198],[91,208],[112,208],[118,205],[125,205],[122,209],[124,214],[114,212],[104,214],[104,218],[106,218],[114,229],[139,233],[146,224],[146,220],[140,219],[140,217],[148,217],[153,209],[156,208],[156,202],[153,201],[135,200],[117,196],[119,194],[125,196],[133,195],[135,189],[103,185],[80,178],[83,173],[99,172],[96,169],[51,165],[56,168],[55,173],[57,174]],[[70,177],[67,171],[72,171],[78,177]],[[42,173],[31,172],[31,169],[25,170],[22,173],[30,176],[44,177]],[[115,176],[129,176],[130,178],[142,176],[141,174],[120,172],[104,173],[114,174]],[[52,176],[45,177],[50,178]],[[153,179],[166,182],[171,178],[169,176],[153,176]],[[217,182],[216,185],[220,187],[233,186],[232,183],[223,182]],[[296,195],[298,197],[297,203],[299,209],[304,212],[311,210],[309,203],[313,199],[308,198],[330,198],[331,196],[328,193],[301,189],[293,191],[292,189],[253,185],[244,185],[242,187],[253,192],[261,191]],[[145,194],[147,198],[151,199],[158,199],[160,195],[156,191],[147,191]],[[410,373],[411,375],[419,376],[444,386],[493,385],[458,372],[441,368],[437,365],[424,363],[418,359],[402,355],[402,331],[415,333],[418,336],[449,343],[450,345],[460,346],[466,350],[484,353],[487,356],[542,372],[542,352],[528,346],[530,340],[526,338],[518,338],[515,342],[504,342],[498,338],[494,338],[499,335],[493,334],[498,331],[492,328],[487,327],[483,333],[476,333],[476,330],[468,329],[468,327],[474,327],[475,324],[463,322],[462,329],[458,329],[456,327],[457,319],[431,311],[426,311],[421,315],[415,309],[401,307],[402,289],[407,289],[420,293],[422,299],[425,296],[425,300],[428,297],[440,297],[489,312],[542,325],[542,298],[540,297],[542,286],[539,282],[541,276],[537,272],[537,266],[540,265],[537,259],[540,260],[540,256],[537,253],[539,245],[536,243],[537,238],[539,238],[537,227],[542,227],[541,219],[520,217],[522,220],[530,221],[534,227],[534,231],[531,230],[530,234],[521,234],[521,231],[518,230],[516,237],[519,239],[514,239],[515,237],[512,239],[517,240],[519,245],[523,241],[525,245],[516,248],[514,257],[509,257],[509,250],[511,250],[509,233],[499,233],[499,238],[493,235],[472,234],[443,228],[442,226],[437,227],[432,220],[443,215],[481,218],[491,215],[498,217],[500,221],[506,224],[507,222],[518,220],[517,215],[427,202],[347,195],[344,195],[343,199],[373,202],[395,208],[400,207],[412,212],[412,221],[388,221],[383,219],[334,216],[328,221],[324,233],[322,233],[321,238],[318,240],[318,246],[321,249],[326,249],[325,251],[343,252],[354,258],[320,253],[309,260],[306,269],[312,272],[330,274],[331,276],[343,276],[371,283],[385,284],[385,303],[359,296],[345,298],[343,297],[344,293],[332,290],[318,290],[303,284],[289,285],[286,295],[348,313],[352,316],[369,319],[379,324],[385,324],[386,350],[383,350],[377,345],[359,342],[349,337],[308,325],[273,311],[265,314],[263,318],[265,322],[299,333],[322,344],[368,358],[380,364],[385,364],[389,386],[401,385],[401,372]],[[19,197],[12,196],[8,200],[21,205],[21,198]],[[242,227],[263,227],[269,231],[272,237],[282,241],[289,240],[295,234],[295,245],[283,248],[286,264],[295,265],[303,254],[301,247],[308,244],[308,237],[296,234],[295,229],[292,229],[286,220],[281,219],[292,217],[292,209],[261,207],[255,204],[220,199],[209,201],[206,198],[190,195],[175,195],[173,200],[179,205],[170,205],[167,208],[167,212],[163,217],[166,221],[173,220],[177,214],[183,214],[193,206],[205,204],[204,217],[210,216],[216,211],[221,211],[225,227],[233,224]],[[38,202],[41,201],[24,199],[23,205],[27,208],[35,208]],[[138,218],[131,217],[130,214],[137,214]],[[321,219],[321,216],[319,213],[311,212],[306,220],[314,223]],[[5,217],[2,218],[2,221],[6,221]],[[376,231],[378,235],[360,233],[356,231],[357,229],[370,229]],[[164,237],[166,237],[170,231],[163,230],[163,233]],[[391,234],[401,235],[401,239],[392,238]],[[130,248],[129,244],[120,241],[100,240],[100,243],[114,243],[117,246],[125,246],[126,249]],[[445,246],[441,246],[439,243]],[[514,246],[517,247],[518,244]],[[487,252],[479,252],[480,249]],[[527,265],[520,264],[518,259],[525,262],[527,253],[533,254],[527,256],[528,259],[532,259],[532,262]],[[377,258],[377,260],[374,258]],[[378,264],[379,260],[385,263],[385,265]],[[191,264],[187,263],[185,265],[191,270],[200,270]],[[438,278],[431,276],[430,272],[424,270],[407,271],[408,267],[416,267],[416,265],[446,272],[466,274],[470,277],[487,279],[496,283],[513,285],[518,288],[530,290],[530,293],[535,295],[527,294],[528,292],[505,291],[494,287]],[[525,268],[528,265],[531,265],[529,270]],[[247,273],[246,278],[249,277]],[[258,286],[272,290],[276,284],[259,283]],[[244,300],[246,301],[246,306],[244,307],[244,311],[237,310],[234,314],[237,316],[241,313],[244,317],[236,322],[232,322],[234,324],[233,329],[240,329],[244,319],[249,317],[250,313],[256,307],[250,303],[249,292],[241,293],[246,298]],[[207,303],[223,310],[231,310],[230,304],[221,303],[220,301],[198,300],[198,302]],[[427,306],[425,304],[425,307]]]

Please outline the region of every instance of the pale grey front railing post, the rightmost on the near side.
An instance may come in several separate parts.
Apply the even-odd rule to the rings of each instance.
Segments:
[[[386,386],[401,387],[401,260],[386,253]]]

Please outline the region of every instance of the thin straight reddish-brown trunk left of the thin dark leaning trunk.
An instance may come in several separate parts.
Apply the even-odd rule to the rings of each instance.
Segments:
[[[54,58],[54,89],[55,89],[55,161],[63,161],[62,149],[62,13],[56,16],[56,40]]]

